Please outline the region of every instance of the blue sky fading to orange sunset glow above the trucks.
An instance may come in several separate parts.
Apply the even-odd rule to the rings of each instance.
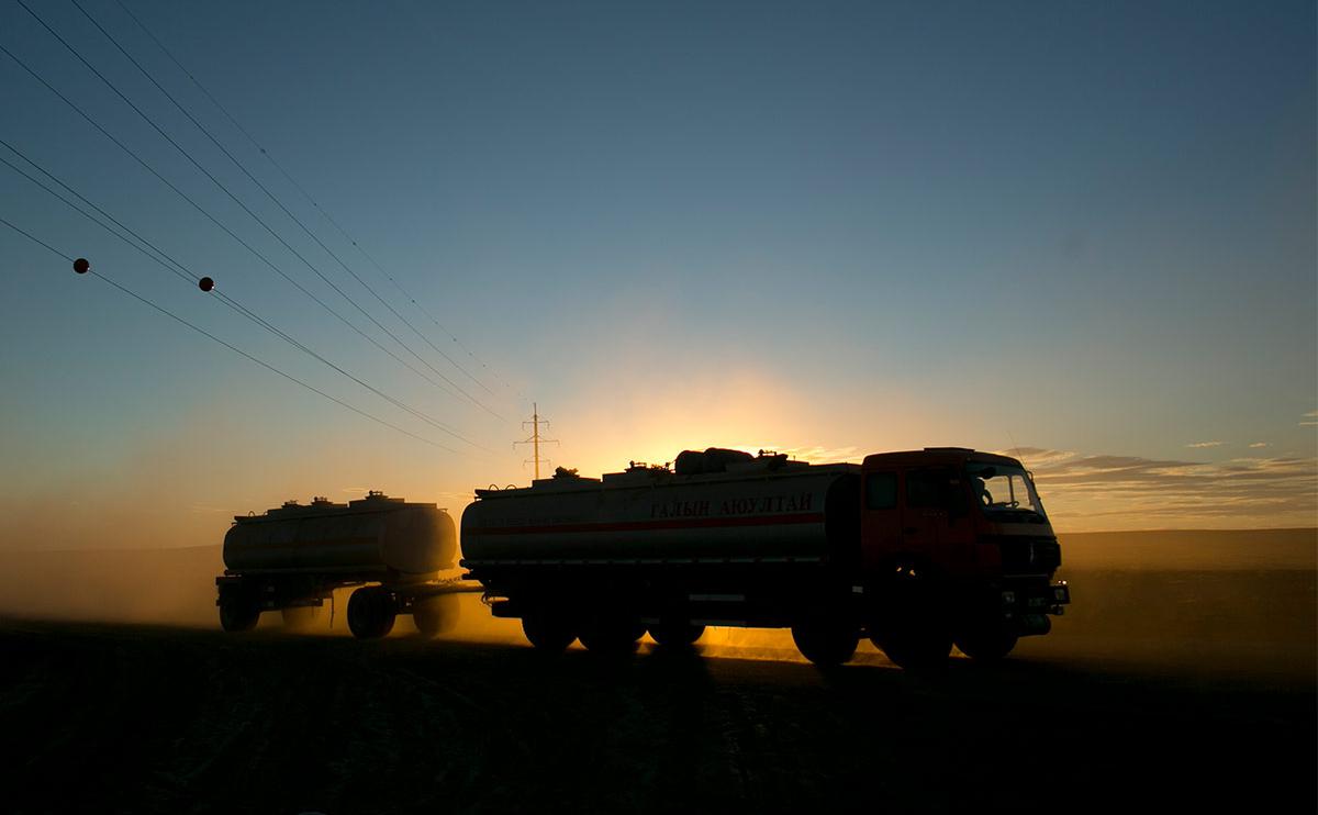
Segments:
[[[0,165],[50,245],[0,224],[0,549],[457,513],[532,402],[583,475],[966,446],[1062,531],[1318,525],[1311,3],[22,0],[0,45],[86,113],[0,54],[0,138],[183,266]]]

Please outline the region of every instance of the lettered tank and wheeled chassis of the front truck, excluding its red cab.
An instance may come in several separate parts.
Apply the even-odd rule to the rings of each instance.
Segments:
[[[461,564],[498,617],[542,649],[695,642],[706,625],[792,628],[807,655],[837,650],[816,624],[858,558],[859,467],[709,448],[676,467],[477,491]],[[853,644],[854,650],[854,644]]]

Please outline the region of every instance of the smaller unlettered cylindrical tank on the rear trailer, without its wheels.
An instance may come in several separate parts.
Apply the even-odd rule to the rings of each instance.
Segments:
[[[364,500],[285,504],[239,516],[224,535],[233,572],[384,575],[422,579],[453,566],[453,520],[434,504],[370,493]]]

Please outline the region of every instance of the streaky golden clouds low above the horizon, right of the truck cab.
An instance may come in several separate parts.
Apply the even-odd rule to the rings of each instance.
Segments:
[[[1065,530],[1313,526],[1318,517],[1318,458],[1205,463],[1040,448],[1020,458]]]

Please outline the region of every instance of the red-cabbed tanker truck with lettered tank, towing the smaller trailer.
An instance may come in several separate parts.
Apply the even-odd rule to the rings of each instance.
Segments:
[[[960,447],[861,464],[710,447],[601,479],[559,469],[476,491],[467,578],[530,642],[626,650],[706,625],[787,628],[816,665],[869,637],[903,667],[1006,657],[1070,603],[1061,550],[1020,462]]]

